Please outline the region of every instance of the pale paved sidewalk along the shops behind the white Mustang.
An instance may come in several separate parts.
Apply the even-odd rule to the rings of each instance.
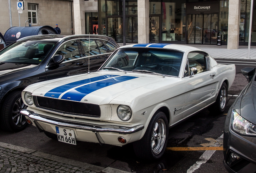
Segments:
[[[118,43],[122,46],[122,43]],[[207,45],[207,44],[186,44],[204,50],[215,59],[229,60],[256,60],[256,46],[250,47],[250,58],[248,56],[248,46],[239,46],[238,49],[227,49],[227,45]]]

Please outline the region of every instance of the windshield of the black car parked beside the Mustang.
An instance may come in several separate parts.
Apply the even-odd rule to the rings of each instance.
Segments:
[[[0,62],[40,64],[54,44],[55,42],[41,40],[16,42],[0,52]]]

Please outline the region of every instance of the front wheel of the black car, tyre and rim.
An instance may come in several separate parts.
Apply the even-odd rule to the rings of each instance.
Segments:
[[[27,127],[25,116],[20,111],[25,109],[27,105],[23,103],[21,91],[13,91],[2,102],[0,125],[3,130],[18,132]]]

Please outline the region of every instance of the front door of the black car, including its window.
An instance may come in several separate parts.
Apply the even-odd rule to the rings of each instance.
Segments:
[[[88,64],[85,62],[79,40],[69,40],[60,45],[54,55],[64,55],[61,64],[55,65],[52,60],[45,67],[47,80],[87,73]]]

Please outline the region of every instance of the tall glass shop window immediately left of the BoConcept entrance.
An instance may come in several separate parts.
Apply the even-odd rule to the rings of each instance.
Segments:
[[[185,41],[186,0],[162,2],[162,41]]]

